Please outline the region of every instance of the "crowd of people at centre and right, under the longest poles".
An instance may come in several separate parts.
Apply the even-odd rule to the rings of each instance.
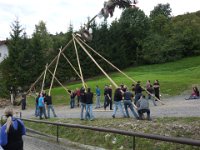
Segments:
[[[160,100],[159,89],[160,85],[158,80],[155,80],[153,85],[151,84],[150,80],[148,80],[146,83],[146,89],[142,88],[140,81],[138,81],[136,85],[132,85],[130,91],[126,85],[121,84],[120,87],[115,89],[114,94],[112,85],[105,85],[103,92],[101,92],[98,85],[96,85],[95,93],[91,91],[91,88],[85,89],[83,87],[81,89],[77,88],[76,90],[69,90],[68,92],[70,93],[70,108],[73,109],[76,106],[81,107],[81,120],[94,119],[94,95],[96,96],[95,109],[103,107],[104,110],[106,110],[109,108],[109,110],[113,110],[113,118],[115,118],[118,109],[124,117],[130,117],[128,111],[129,108],[136,119],[143,119],[144,117],[142,114],[146,112],[147,119],[150,120],[150,109],[148,101],[152,100],[154,106],[157,106],[156,101]],[[144,94],[142,94],[143,91],[147,91],[147,98]],[[102,105],[101,97],[103,97]]]

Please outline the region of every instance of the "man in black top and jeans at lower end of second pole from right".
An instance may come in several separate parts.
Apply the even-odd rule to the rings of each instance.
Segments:
[[[114,93],[114,111],[113,111],[113,115],[112,115],[113,118],[115,118],[118,108],[120,109],[121,113],[123,114],[123,117],[126,117],[126,115],[122,109],[121,101],[122,101],[122,91],[121,91],[120,87],[118,87]]]

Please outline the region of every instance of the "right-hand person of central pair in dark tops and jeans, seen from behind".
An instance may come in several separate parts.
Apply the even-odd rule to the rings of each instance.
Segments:
[[[93,104],[93,93],[91,92],[91,89],[87,89],[86,93],[86,112],[85,112],[85,119],[93,120],[93,112],[92,112],[92,104]]]

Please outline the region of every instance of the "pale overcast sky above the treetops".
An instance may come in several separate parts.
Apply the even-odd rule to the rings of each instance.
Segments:
[[[72,23],[75,30],[87,22],[87,17],[94,17],[103,8],[106,0],[0,0],[0,40],[9,38],[12,23],[18,18],[20,25],[30,37],[39,21],[44,21],[49,33],[67,32]],[[200,10],[199,0],[138,0],[137,6],[146,15],[161,3],[169,3],[172,15]],[[122,10],[115,9],[111,22],[119,18]],[[97,18],[97,22],[103,18]]]

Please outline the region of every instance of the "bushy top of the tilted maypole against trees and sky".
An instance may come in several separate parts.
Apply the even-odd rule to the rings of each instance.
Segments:
[[[112,17],[115,7],[118,7],[120,9],[126,9],[126,8],[136,8],[136,4],[138,3],[137,0],[108,0],[104,2],[103,8],[101,11],[95,15],[91,20],[88,21],[87,24],[84,25],[84,27],[81,27],[79,32],[76,33],[77,36],[79,36],[83,41],[92,41],[92,29],[91,29],[91,22],[96,18],[102,18],[106,20],[109,16]]]

